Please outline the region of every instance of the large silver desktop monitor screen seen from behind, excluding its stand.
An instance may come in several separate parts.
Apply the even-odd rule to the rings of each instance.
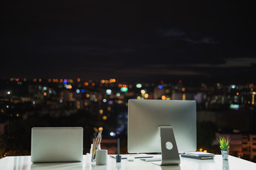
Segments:
[[[161,127],[171,130],[166,134]],[[129,99],[128,152],[166,152],[169,149],[163,150],[164,145],[169,143],[161,143],[165,137],[172,140],[171,148],[174,147],[170,157],[176,157],[174,152],[196,151],[196,101]]]

